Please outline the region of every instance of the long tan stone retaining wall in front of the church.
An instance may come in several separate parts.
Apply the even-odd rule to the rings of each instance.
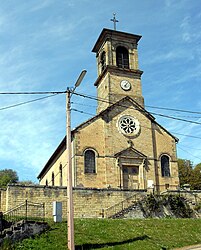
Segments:
[[[145,190],[123,191],[115,189],[91,189],[74,188],[74,214],[81,218],[101,218],[102,210],[111,207],[135,194],[145,193]],[[1,200],[2,211],[16,207],[20,203],[35,202],[45,204],[45,217],[51,218],[53,212],[53,201],[62,202],[63,218],[66,218],[67,197],[65,187],[50,186],[23,186],[10,184],[7,187],[7,196]],[[6,206],[4,205],[6,203]]]

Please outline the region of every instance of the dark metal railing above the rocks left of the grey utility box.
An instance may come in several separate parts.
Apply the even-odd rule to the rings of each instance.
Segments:
[[[45,220],[45,204],[34,203],[28,200],[18,206],[4,212],[3,218],[6,221],[17,222],[20,220]]]

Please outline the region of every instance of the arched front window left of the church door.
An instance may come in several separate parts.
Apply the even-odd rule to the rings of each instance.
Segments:
[[[96,173],[96,155],[91,149],[88,149],[84,153],[84,171],[85,173]]]

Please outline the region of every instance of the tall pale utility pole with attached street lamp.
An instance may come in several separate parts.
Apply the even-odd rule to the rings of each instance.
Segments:
[[[72,187],[72,149],[71,149],[71,110],[70,98],[86,74],[83,70],[78,77],[73,90],[66,91],[66,150],[67,150],[67,223],[68,223],[68,249],[75,250],[74,242],[74,208]]]

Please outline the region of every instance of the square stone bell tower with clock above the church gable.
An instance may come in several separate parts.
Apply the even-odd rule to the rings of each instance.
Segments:
[[[137,45],[141,36],[116,30],[103,29],[92,52],[96,53],[98,78],[97,113],[130,96],[144,107],[141,89],[142,71],[138,69]]]

